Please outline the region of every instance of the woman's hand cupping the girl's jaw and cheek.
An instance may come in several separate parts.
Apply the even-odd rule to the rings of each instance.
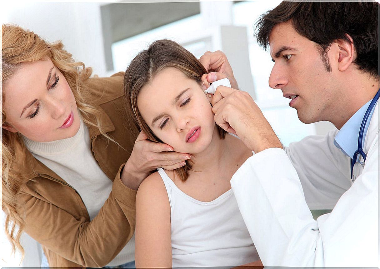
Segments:
[[[174,152],[168,144],[149,141],[141,131],[120,178],[124,185],[137,190],[141,182],[158,167],[177,169],[184,166],[185,160],[190,157],[187,153]]]

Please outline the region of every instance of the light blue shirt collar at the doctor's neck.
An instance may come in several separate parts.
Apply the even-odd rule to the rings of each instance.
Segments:
[[[359,131],[361,123],[363,122],[364,114],[366,114],[367,108],[371,103],[369,100],[364,106],[362,106],[352,117],[340,128],[334,139],[334,145],[342,150],[342,152],[352,159],[355,151],[358,149]],[[363,142],[366,137],[369,122],[372,118],[374,109],[369,114],[366,126],[364,127]]]

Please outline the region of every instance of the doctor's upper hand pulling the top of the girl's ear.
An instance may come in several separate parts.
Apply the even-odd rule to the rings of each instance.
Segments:
[[[201,64],[209,73],[207,76],[208,82],[212,83],[219,79],[228,78],[230,80],[231,86],[234,89],[238,89],[231,65],[228,62],[226,55],[222,51],[206,51],[199,58],[199,62],[201,62]]]

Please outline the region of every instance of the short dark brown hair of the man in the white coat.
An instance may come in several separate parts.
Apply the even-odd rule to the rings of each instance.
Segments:
[[[291,21],[294,29],[319,45],[321,59],[331,71],[327,51],[337,39],[353,39],[358,70],[378,76],[378,3],[282,2],[263,14],[256,24],[256,38],[266,49],[275,25]]]

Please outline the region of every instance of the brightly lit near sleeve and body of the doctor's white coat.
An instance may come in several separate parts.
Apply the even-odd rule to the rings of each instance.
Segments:
[[[264,266],[379,266],[377,144],[363,174],[317,221],[284,150],[245,161],[231,187]]]

